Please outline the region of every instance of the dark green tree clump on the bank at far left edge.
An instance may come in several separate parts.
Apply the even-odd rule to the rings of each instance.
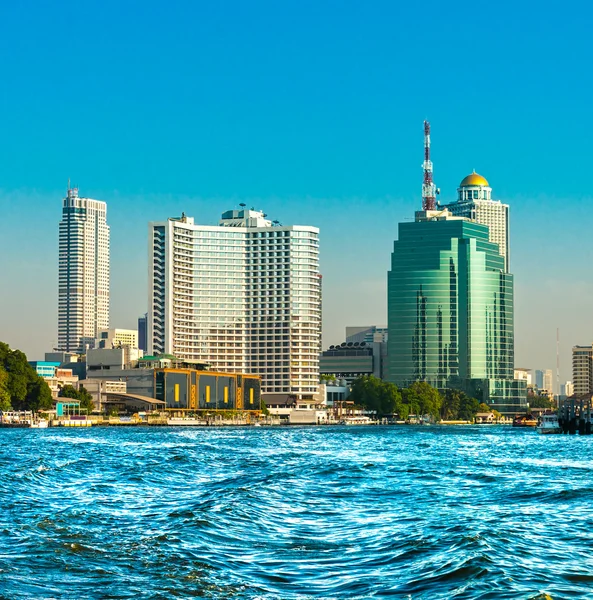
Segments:
[[[51,390],[20,350],[0,342],[0,410],[52,407]]]

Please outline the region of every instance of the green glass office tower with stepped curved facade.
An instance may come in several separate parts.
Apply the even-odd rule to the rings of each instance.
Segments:
[[[444,211],[400,223],[388,274],[388,379],[457,388],[503,414],[514,379],[513,276],[486,225]]]

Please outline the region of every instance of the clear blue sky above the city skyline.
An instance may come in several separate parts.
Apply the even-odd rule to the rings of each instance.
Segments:
[[[5,2],[0,340],[57,338],[68,178],[108,202],[112,325],[147,305],[147,223],[246,202],[321,228],[324,345],[385,324],[397,223],[472,169],[511,205],[516,364],[593,341],[589,2]]]

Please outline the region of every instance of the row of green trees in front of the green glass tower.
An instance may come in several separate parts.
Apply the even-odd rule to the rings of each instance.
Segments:
[[[441,394],[424,381],[400,389],[373,375],[363,375],[352,383],[349,400],[379,416],[397,415],[402,420],[410,415],[429,415],[436,421],[473,421],[478,412],[490,411],[486,404],[461,390],[446,390]],[[492,412],[498,416],[496,411]]]

